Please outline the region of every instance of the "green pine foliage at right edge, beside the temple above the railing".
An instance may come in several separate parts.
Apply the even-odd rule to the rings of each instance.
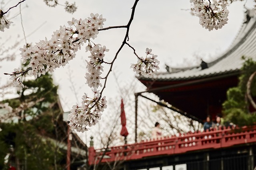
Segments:
[[[242,59],[245,61],[241,68],[238,86],[227,91],[227,100],[222,104],[225,120],[239,126],[252,125],[256,122],[256,113],[250,112],[250,104],[246,98],[246,84],[251,74],[256,71],[256,62],[245,57]],[[255,83],[254,78],[252,84]],[[251,86],[251,93],[253,97],[256,96],[256,86]]]

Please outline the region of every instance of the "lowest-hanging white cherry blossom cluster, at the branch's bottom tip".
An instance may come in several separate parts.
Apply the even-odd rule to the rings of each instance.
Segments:
[[[82,97],[82,106],[74,105],[68,114],[67,121],[72,130],[78,132],[88,131],[88,127],[96,125],[101,119],[102,112],[107,107],[106,97],[100,98],[100,93],[96,88],[92,90],[94,98],[89,98],[85,93]]]

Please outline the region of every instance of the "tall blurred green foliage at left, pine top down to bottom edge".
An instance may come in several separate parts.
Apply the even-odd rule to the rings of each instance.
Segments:
[[[2,101],[8,102],[13,108],[27,102],[34,103],[19,113],[26,115],[26,119],[19,119],[18,123],[0,122],[0,169],[6,168],[4,157],[7,153],[11,153],[11,157],[18,159],[23,166],[26,164],[28,170],[55,170],[55,166],[63,169],[61,162],[65,156],[59,146],[48,138],[55,138],[56,135],[54,123],[60,110],[50,106],[57,101],[58,86],[53,84],[50,74],[41,75],[36,80],[26,80],[24,86],[18,91],[19,98]],[[10,152],[11,145],[13,152]]]

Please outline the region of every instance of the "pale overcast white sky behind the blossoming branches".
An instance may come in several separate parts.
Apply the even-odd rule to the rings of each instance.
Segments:
[[[17,4],[18,0],[6,0],[5,2],[8,2],[8,4],[2,8],[4,11]],[[59,0],[59,2],[64,4],[65,1]],[[27,0],[22,3],[25,34],[29,35],[38,26],[46,22],[31,36],[26,37],[27,42],[35,43],[44,39],[44,37],[50,39],[53,31],[59,29],[60,25],[68,25],[67,21],[71,20],[72,17],[76,19],[87,18],[91,12],[102,14],[107,19],[105,27],[126,25],[130,18],[130,8],[133,3],[133,0],[76,0],[78,9],[74,14],[69,14],[64,11],[63,6],[49,8],[43,0]],[[28,8],[24,8],[25,6],[28,6]],[[158,55],[161,71],[165,71],[164,64],[181,66],[184,59],[186,59],[185,64],[195,64],[196,57],[194,53],[199,54],[206,62],[218,57],[218,54],[224,52],[231,45],[242,25],[245,11],[243,2],[234,2],[229,6],[228,24],[220,30],[211,32],[202,28],[198,23],[199,19],[190,15],[190,11],[181,10],[189,8],[189,0],[140,0],[136,7],[134,21],[130,27],[130,45],[136,49],[137,54],[140,56],[144,56],[146,47],[152,48],[152,53]],[[19,6],[10,10],[7,18],[15,16],[18,12]],[[12,21],[14,23],[10,26],[10,29],[0,32],[1,43],[6,41],[6,44],[10,45],[23,37],[20,16],[12,19]],[[125,31],[126,29],[100,31],[98,38],[94,40],[94,43],[106,45],[110,49],[106,53],[106,58],[109,61],[112,60],[120,47]],[[17,39],[18,34],[20,38]],[[11,38],[9,39],[10,36]],[[23,47],[23,44],[25,44],[24,40],[19,48]],[[18,50],[17,53],[19,53]],[[88,53],[85,53],[85,49],[82,48],[73,61],[54,72],[55,83],[60,86],[58,93],[64,111],[69,111],[76,102],[80,103],[80,98],[84,92],[91,94],[90,88],[87,88],[84,84],[86,72],[84,60],[88,55]],[[116,99],[119,103],[121,95],[118,94],[118,86],[124,87],[128,86],[132,81],[138,81],[134,78],[135,74],[130,69],[130,64],[136,63],[136,61],[137,59],[131,49],[128,47],[122,49],[113,68],[118,76],[119,85],[117,85],[113,73],[111,73],[104,91],[104,95],[107,98],[117,97]],[[10,73],[14,68],[18,68],[20,59],[0,65],[2,66],[0,68],[0,78],[3,81],[9,77],[4,76],[2,73]],[[77,96],[70,89],[71,83],[68,74],[72,76]],[[144,86],[138,87],[138,91],[143,90],[145,90]]]

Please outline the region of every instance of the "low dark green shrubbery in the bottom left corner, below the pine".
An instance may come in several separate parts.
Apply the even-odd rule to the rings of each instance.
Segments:
[[[26,162],[27,169],[51,170],[54,169],[54,156],[58,158],[57,162],[64,159],[59,150],[54,150],[55,144],[38,135],[38,129],[30,122],[2,123],[1,128],[0,169],[4,168],[4,156],[10,152],[10,145],[14,147],[12,156],[21,164]],[[60,164],[58,169],[61,169]]]

